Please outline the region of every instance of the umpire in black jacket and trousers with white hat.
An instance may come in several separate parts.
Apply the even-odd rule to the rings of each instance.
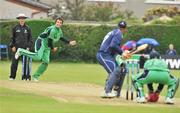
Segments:
[[[19,24],[17,24],[13,29],[12,29],[12,38],[10,41],[10,48],[13,52],[13,57],[12,57],[12,64],[11,64],[11,72],[10,72],[10,77],[9,80],[14,80],[16,78],[16,72],[17,72],[17,67],[18,67],[18,61],[19,59],[15,59],[14,55],[17,51],[18,48],[24,48],[29,50],[32,45],[32,34],[31,34],[31,29],[29,26],[25,24],[25,19],[27,16],[25,14],[19,14],[16,17],[19,21]],[[22,80],[23,79],[29,79],[25,78],[27,75],[22,75]]]

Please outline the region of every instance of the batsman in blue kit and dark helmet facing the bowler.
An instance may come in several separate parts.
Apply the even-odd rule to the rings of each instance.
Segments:
[[[119,48],[123,34],[126,33],[126,28],[126,22],[120,21],[118,23],[118,28],[106,34],[97,52],[96,58],[98,62],[109,75],[105,85],[105,92],[101,95],[102,98],[116,97],[116,94],[112,93],[112,88],[115,84],[116,77],[120,75],[120,68],[115,62],[115,56],[117,54],[123,57],[128,56],[128,54],[123,54],[123,51]]]

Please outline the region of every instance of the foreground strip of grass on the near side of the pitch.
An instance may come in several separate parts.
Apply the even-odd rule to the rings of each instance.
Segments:
[[[107,106],[57,102],[52,98],[0,88],[1,113],[177,113],[179,108]],[[150,109],[150,110],[149,110]]]

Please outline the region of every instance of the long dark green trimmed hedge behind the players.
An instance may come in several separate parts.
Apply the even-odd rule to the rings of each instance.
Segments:
[[[30,20],[27,24],[32,29],[32,35],[35,39],[47,26],[53,21]],[[2,44],[9,44],[11,29],[17,24],[16,21],[0,22],[0,36]],[[59,51],[51,55],[52,60],[74,61],[74,62],[96,62],[96,52],[107,32],[114,29],[114,26],[107,25],[77,25],[64,24],[62,29],[64,36],[77,40],[75,47],[57,43]],[[123,43],[127,40],[138,40],[141,37],[153,37],[159,41],[157,50],[164,54],[168,45],[173,43],[177,52],[180,53],[180,26],[166,25],[133,25],[128,27],[128,33],[124,36]]]

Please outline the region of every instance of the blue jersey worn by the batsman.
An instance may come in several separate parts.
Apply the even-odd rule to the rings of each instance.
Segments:
[[[110,55],[122,54],[122,49],[120,48],[122,37],[123,35],[120,29],[114,29],[113,31],[109,32],[104,37],[99,52]]]

